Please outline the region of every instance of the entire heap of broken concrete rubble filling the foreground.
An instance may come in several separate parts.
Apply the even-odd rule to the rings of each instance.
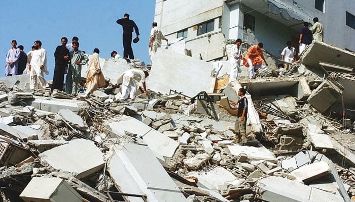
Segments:
[[[241,74],[228,85],[219,82],[226,63],[161,48],[147,81],[151,92],[130,102],[117,99],[114,83],[73,97],[14,88],[9,79],[18,79],[9,77],[0,85],[0,198],[350,201],[353,116],[341,114],[340,123],[337,105],[352,99],[354,79],[308,63],[318,45],[327,44],[313,42],[290,75],[269,67],[270,74],[255,80]],[[236,136],[236,117],[228,111],[240,87],[248,92],[246,142]],[[348,103],[340,102],[344,112],[353,109]]]

